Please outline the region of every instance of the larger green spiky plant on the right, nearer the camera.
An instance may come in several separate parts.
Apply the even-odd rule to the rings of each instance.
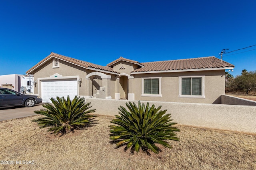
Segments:
[[[147,103],[146,106],[138,102],[138,107],[132,102],[126,103],[128,110],[120,106],[118,108],[120,115],[115,115],[110,125],[110,139],[116,143],[116,147],[126,146],[124,150],[131,148],[139,152],[140,148],[148,152],[148,149],[154,153],[159,153],[156,143],[164,147],[171,148],[166,140],[179,141],[174,132],[180,131],[172,127],[177,123],[171,122],[171,114],[166,114],[167,110],[160,110],[161,106],[155,108]],[[149,153],[149,152],[148,152]]]

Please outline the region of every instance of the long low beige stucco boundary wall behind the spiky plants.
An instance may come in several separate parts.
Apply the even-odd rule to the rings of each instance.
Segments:
[[[127,100],[102,100],[88,98],[96,114],[114,116],[118,114],[118,107],[125,106]],[[138,105],[137,101],[135,102]],[[141,101],[146,104],[146,101]],[[149,102],[150,106],[162,106],[172,119],[180,125],[207,127],[256,133],[256,106],[237,106],[222,104],[197,104],[175,102]],[[125,106],[126,107],[126,106]]]

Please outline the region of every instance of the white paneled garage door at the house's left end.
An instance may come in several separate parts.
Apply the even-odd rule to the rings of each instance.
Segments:
[[[51,102],[50,98],[56,98],[56,96],[67,98],[68,95],[72,100],[77,95],[77,80],[42,80],[41,92],[43,102]]]

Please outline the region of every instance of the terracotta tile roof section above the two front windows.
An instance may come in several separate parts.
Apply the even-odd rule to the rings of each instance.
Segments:
[[[224,68],[234,67],[233,64],[220,61],[216,57],[202,57],[194,59],[181,59],[170,61],[155,61],[142,63],[145,67],[138,68],[132,72],[165,71],[165,70],[188,70],[196,68]]]

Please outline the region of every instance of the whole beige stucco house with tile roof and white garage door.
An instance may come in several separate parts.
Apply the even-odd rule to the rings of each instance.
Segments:
[[[26,74],[34,74],[34,94],[51,97],[220,103],[225,69],[216,57],[139,63],[120,57],[101,66],[50,53]]]

